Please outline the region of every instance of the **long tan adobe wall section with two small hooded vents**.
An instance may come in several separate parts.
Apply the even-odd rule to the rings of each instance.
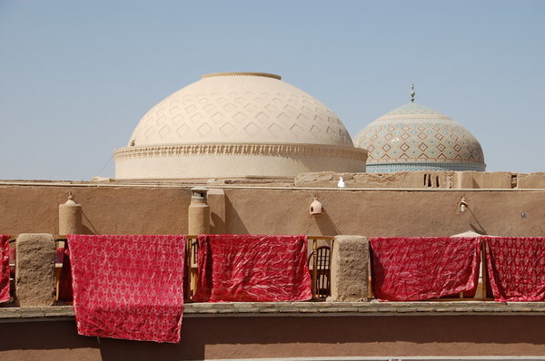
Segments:
[[[545,236],[545,191],[225,190],[227,233]],[[469,210],[461,213],[464,196]],[[313,197],[323,214],[309,215]]]

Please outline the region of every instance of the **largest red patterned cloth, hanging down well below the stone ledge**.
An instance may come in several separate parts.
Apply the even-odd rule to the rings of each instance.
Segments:
[[[69,235],[80,335],[179,342],[185,236]]]

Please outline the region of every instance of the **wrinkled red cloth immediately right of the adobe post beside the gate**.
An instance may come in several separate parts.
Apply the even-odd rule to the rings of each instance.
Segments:
[[[373,238],[372,290],[387,301],[475,295],[479,283],[478,238]]]

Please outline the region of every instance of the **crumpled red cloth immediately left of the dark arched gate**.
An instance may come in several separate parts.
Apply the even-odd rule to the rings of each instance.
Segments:
[[[198,302],[312,298],[306,236],[199,236]]]

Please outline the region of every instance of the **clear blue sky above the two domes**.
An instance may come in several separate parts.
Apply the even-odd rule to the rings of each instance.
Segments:
[[[352,136],[415,83],[488,171],[545,171],[544,19],[520,0],[0,0],[0,179],[114,176],[155,103],[236,71],[282,75]]]

